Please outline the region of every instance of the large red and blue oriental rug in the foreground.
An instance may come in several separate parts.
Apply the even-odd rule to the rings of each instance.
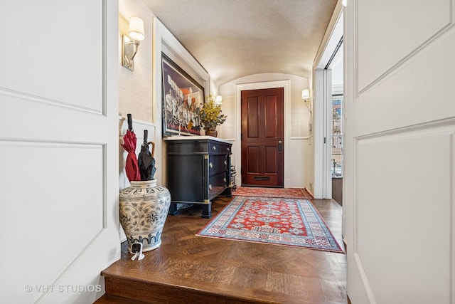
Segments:
[[[236,196],[196,236],[343,253],[308,199]]]

